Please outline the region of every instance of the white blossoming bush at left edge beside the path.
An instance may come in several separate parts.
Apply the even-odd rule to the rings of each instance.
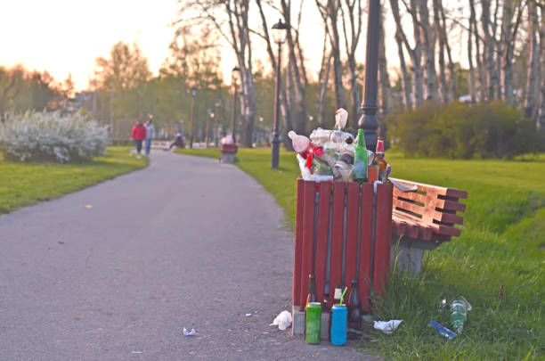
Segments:
[[[82,112],[27,111],[0,123],[0,151],[13,160],[93,160],[107,144],[107,127]]]

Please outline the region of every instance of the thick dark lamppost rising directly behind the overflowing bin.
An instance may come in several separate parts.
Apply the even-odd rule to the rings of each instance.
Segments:
[[[378,89],[378,17],[380,14],[379,0],[369,0],[369,15],[367,21],[367,53],[365,54],[365,97],[362,102],[363,115],[358,121],[358,127],[365,132],[367,149],[375,152],[377,147],[377,89]]]

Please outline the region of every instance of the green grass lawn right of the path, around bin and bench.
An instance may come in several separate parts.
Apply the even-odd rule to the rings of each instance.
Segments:
[[[217,149],[179,152],[219,157]],[[270,152],[240,149],[237,165],[273,193],[293,226],[295,154],[281,152],[281,168],[272,170]],[[392,176],[468,191],[468,207],[461,236],[427,252],[418,278],[392,276],[375,314],[403,324],[391,336],[371,330],[362,348],[386,359],[545,359],[545,156],[436,160],[386,152],[386,159]],[[447,341],[427,323],[448,326],[438,304],[459,295],[473,309],[463,334]]]

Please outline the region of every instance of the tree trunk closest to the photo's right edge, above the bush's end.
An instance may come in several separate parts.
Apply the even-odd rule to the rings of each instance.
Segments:
[[[535,0],[528,0],[528,37],[530,53],[528,56],[528,76],[526,77],[525,117],[534,118],[535,76],[538,63],[537,29],[539,27]]]

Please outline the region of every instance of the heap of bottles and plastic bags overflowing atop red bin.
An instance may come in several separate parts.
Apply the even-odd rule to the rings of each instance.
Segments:
[[[367,182],[368,167],[378,168],[378,180],[386,183],[391,171],[384,156],[384,139],[378,137],[377,151],[366,149],[363,129],[358,135],[343,131],[348,112],[339,109],[335,112],[335,129],[314,129],[310,139],[290,131],[289,138],[297,152],[297,162],[301,177],[312,181]]]

